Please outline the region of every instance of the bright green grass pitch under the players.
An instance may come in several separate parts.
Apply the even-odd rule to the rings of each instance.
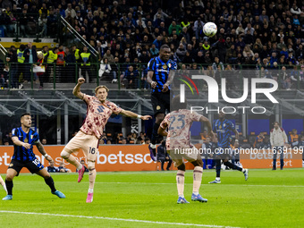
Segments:
[[[1,227],[304,226],[304,169],[249,170],[247,182],[241,172],[223,171],[221,184],[207,184],[215,170],[204,171],[200,194],[207,203],[190,201],[192,171],[187,171],[188,205],[176,204],[174,171],[97,173],[91,204],[85,202],[88,173],[80,183],[76,173],[52,176],[66,198],[52,195],[41,177],[21,174],[13,182],[13,200],[0,201]]]

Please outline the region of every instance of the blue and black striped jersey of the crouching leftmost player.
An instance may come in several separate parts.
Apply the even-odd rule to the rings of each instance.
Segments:
[[[30,129],[29,133],[22,131],[22,128],[14,128],[13,137],[18,137],[19,140],[25,143],[29,143],[31,146],[29,149],[23,148],[21,146],[13,145],[13,157],[18,161],[33,161],[36,159],[36,156],[33,152],[33,145],[39,142],[38,132]]]

